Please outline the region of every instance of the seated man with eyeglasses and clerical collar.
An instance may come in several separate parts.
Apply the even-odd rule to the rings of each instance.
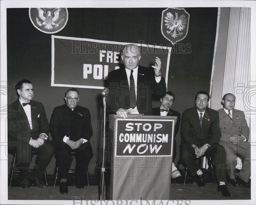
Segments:
[[[79,92],[71,88],[65,93],[66,104],[55,107],[50,120],[52,144],[60,178],[60,193],[67,194],[68,170],[72,163],[71,153],[75,152],[76,188],[84,188],[86,169],[93,156],[89,142],[92,136],[91,114],[88,108],[77,105]]]

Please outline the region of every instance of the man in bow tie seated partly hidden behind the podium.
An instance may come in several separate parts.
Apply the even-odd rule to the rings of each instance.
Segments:
[[[173,160],[176,157],[176,146],[177,146],[175,136],[177,135],[177,133],[179,131],[179,123],[180,123],[180,113],[175,111],[175,110],[170,109],[173,105],[174,100],[175,100],[174,93],[168,91],[168,92],[166,92],[165,95],[163,95],[160,98],[160,102],[161,102],[160,107],[155,107],[155,108],[152,109],[153,115],[156,115],[156,116],[176,116],[177,117],[177,121],[176,121],[176,124],[175,124],[175,130],[174,130]],[[176,178],[176,177],[179,177],[179,176],[181,176],[181,174],[173,163],[172,178]]]

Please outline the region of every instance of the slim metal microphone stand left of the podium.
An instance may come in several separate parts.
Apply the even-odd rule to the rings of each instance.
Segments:
[[[103,139],[102,139],[102,166],[101,166],[101,175],[100,175],[100,200],[103,200],[103,191],[104,191],[104,172],[105,172],[105,167],[104,167],[104,160],[105,160],[105,146],[106,146],[106,135],[105,135],[105,130],[106,130],[106,95],[103,95],[103,107],[104,107],[104,117],[103,117]]]

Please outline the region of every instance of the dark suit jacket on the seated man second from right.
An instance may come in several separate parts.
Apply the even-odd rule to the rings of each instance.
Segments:
[[[183,143],[191,146],[192,144],[201,147],[204,144],[213,145],[219,142],[221,133],[218,129],[219,114],[216,110],[206,108],[202,129],[200,129],[200,120],[197,108],[189,108],[182,114],[180,134]]]

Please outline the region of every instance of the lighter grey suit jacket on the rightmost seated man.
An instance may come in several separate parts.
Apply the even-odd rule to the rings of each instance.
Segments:
[[[250,129],[244,117],[244,112],[240,110],[232,110],[232,121],[231,122],[229,116],[225,112],[224,108],[217,110],[219,112],[219,120],[220,120],[220,129],[221,129],[221,138],[220,144],[225,146],[237,147],[238,145],[243,147],[244,149],[250,148],[250,144],[248,143]],[[247,141],[240,142],[237,145],[233,143],[229,143],[229,138],[231,135],[243,135]]]

